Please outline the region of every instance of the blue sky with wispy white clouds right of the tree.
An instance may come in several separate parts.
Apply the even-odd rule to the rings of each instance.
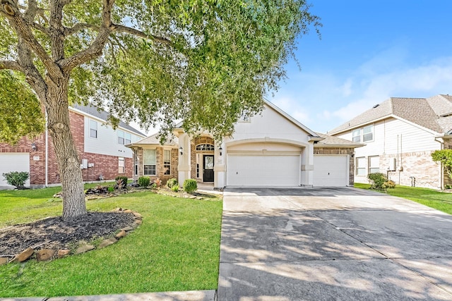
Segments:
[[[309,1],[309,0],[308,0]],[[321,18],[299,39],[268,99],[326,133],[389,97],[452,94],[452,1],[311,0]]]

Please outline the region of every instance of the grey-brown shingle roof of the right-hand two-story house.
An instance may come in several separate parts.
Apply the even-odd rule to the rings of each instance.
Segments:
[[[339,125],[328,134],[334,135],[345,130],[352,130],[367,123],[388,118],[391,115],[428,128],[436,133],[448,133],[452,129],[452,118],[448,118],[444,114],[452,115],[452,97],[449,95],[439,94],[429,98],[391,97],[350,121]]]

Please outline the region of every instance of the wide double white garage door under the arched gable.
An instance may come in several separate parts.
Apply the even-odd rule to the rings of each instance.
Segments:
[[[299,186],[300,155],[227,156],[229,186]]]

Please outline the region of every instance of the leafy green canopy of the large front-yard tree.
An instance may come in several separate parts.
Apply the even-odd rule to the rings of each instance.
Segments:
[[[1,3],[3,16],[20,13],[29,37],[1,18],[0,57],[17,61],[24,39],[37,42],[30,63],[42,78],[52,71],[47,59],[70,70],[70,102],[93,102],[144,128],[169,130],[182,119],[188,132],[216,136],[232,133],[243,111],[260,111],[285,76],[295,39],[319,25],[302,0]],[[52,20],[60,13],[61,24]]]

